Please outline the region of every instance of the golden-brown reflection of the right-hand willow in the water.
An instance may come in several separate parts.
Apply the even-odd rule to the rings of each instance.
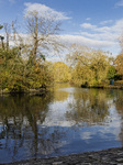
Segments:
[[[66,113],[67,118],[76,123],[103,122],[109,114],[109,103],[105,90],[82,90],[74,94],[74,101],[69,103],[71,111]]]

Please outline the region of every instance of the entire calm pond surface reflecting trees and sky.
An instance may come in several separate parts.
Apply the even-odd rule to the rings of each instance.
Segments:
[[[0,97],[0,163],[123,144],[123,90],[60,85],[43,97]]]

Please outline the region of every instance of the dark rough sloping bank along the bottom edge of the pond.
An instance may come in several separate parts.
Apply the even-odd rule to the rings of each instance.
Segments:
[[[123,147],[86,152],[68,156],[37,158],[8,165],[123,165]]]

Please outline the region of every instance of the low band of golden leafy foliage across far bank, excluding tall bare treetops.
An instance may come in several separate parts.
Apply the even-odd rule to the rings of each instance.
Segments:
[[[32,65],[19,47],[0,48],[0,89],[22,92],[41,89],[54,82],[71,82],[82,87],[107,86],[109,80],[122,79],[123,55],[113,58],[109,53],[89,47],[75,47],[63,62],[38,62]]]

